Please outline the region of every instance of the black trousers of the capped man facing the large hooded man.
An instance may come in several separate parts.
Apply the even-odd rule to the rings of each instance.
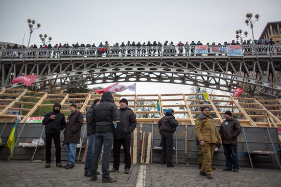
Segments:
[[[121,145],[123,145],[124,149],[124,163],[125,163],[125,169],[131,168],[131,139],[114,139],[113,142],[113,168],[116,170],[119,169],[120,166],[120,150]]]

